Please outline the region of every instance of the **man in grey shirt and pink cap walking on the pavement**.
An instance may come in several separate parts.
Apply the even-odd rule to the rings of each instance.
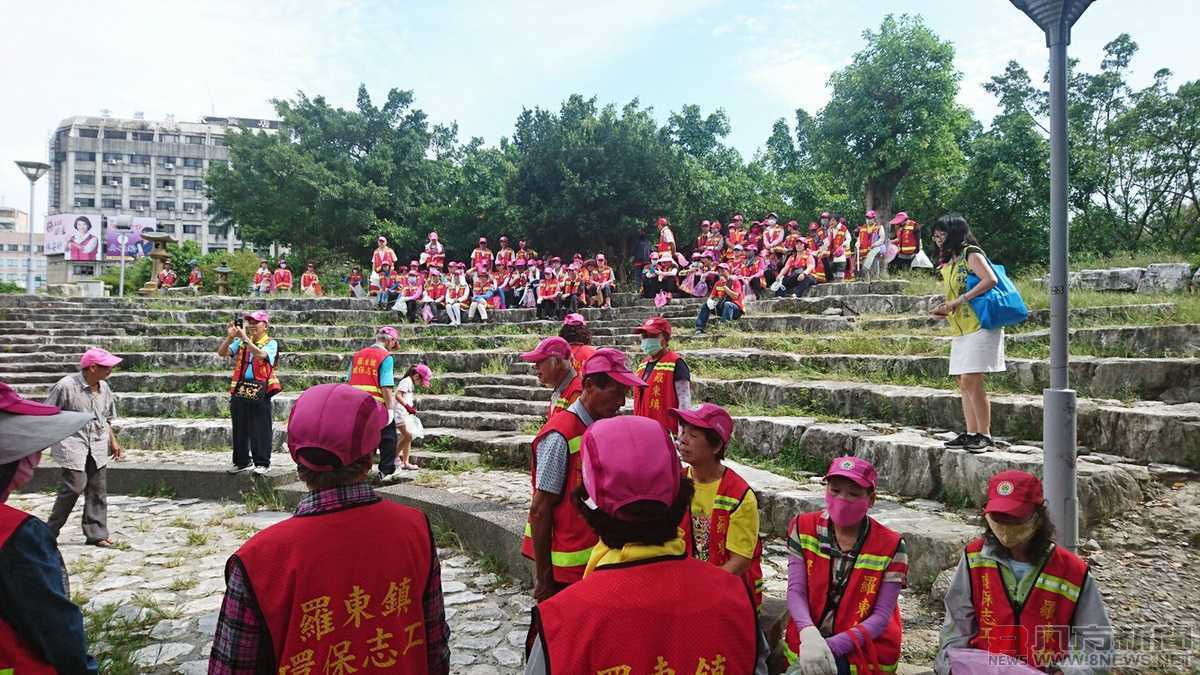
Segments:
[[[50,387],[46,404],[91,416],[91,422],[50,448],[50,456],[62,471],[62,485],[47,522],[55,537],[62,530],[79,495],[83,501],[83,536],[89,545],[112,546],[108,538],[108,458],[124,456],[113,434],[116,404],[108,376],[121,359],[101,348],[84,352],[79,372],[67,375]]]

